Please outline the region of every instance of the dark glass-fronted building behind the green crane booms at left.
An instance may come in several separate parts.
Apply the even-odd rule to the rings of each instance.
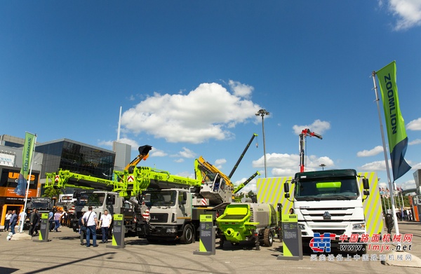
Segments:
[[[44,153],[44,174],[62,169],[103,179],[107,179],[107,174],[112,174],[116,156],[114,151],[70,139],[36,144],[35,151]],[[44,174],[41,177],[45,178]]]

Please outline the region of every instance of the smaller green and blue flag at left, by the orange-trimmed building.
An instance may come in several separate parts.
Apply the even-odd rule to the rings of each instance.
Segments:
[[[16,186],[15,193],[19,196],[25,196],[27,189],[27,177],[31,167],[32,154],[34,153],[35,136],[26,132],[25,144],[22,151],[22,169],[20,170],[18,186]]]

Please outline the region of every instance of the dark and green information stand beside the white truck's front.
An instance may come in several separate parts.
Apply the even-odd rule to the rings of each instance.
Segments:
[[[301,229],[298,228],[297,214],[282,215],[282,250],[279,260],[302,260]]]

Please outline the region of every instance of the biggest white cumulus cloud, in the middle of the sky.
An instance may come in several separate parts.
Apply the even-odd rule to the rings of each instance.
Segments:
[[[232,85],[234,94],[218,83],[202,83],[187,95],[154,93],[125,111],[121,125],[136,135],[153,135],[167,142],[200,144],[227,139],[233,135],[229,128],[254,119],[260,109],[246,98],[253,87]]]

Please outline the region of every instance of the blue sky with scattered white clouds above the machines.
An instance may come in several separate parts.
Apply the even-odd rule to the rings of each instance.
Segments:
[[[396,60],[406,160],[421,168],[421,1],[1,1],[0,134],[154,147],[143,165],[232,180],[354,168],[387,182],[373,70]],[[384,123],[384,122],[383,122]],[[388,153],[389,154],[389,153]],[[246,191],[255,189],[255,181]]]

